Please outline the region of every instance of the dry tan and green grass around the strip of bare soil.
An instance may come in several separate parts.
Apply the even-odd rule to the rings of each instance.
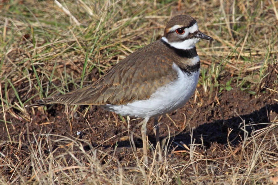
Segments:
[[[0,7],[1,184],[278,183],[277,117],[236,146],[212,144],[210,154],[194,139],[189,146],[179,143],[183,151],[169,150],[166,142],[162,162],[152,157],[143,167],[133,148],[120,161],[117,147],[103,151],[82,138],[30,131],[33,117],[48,113],[45,107],[24,107],[96,80],[129,53],[160,38],[176,14],[196,18],[200,30],[215,39],[197,46],[206,94],[216,86],[229,88],[217,78],[230,72],[239,89],[260,96],[267,68],[278,73],[276,1],[2,0]],[[277,79],[265,89],[272,92],[273,103],[278,101]],[[247,81],[257,88],[246,86]],[[72,112],[65,110],[68,120]],[[17,130],[16,123],[27,129]],[[241,124],[245,130],[249,123]],[[157,156],[156,150],[152,153]]]

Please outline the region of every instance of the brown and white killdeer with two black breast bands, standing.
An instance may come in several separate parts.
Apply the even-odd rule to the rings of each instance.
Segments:
[[[166,24],[162,39],[133,52],[95,83],[26,107],[99,105],[122,116],[143,118],[141,134],[147,163],[147,122],[155,118],[159,141],[158,116],[184,106],[194,93],[200,74],[195,44],[200,39],[213,40],[199,31],[191,16],[175,16]]]

